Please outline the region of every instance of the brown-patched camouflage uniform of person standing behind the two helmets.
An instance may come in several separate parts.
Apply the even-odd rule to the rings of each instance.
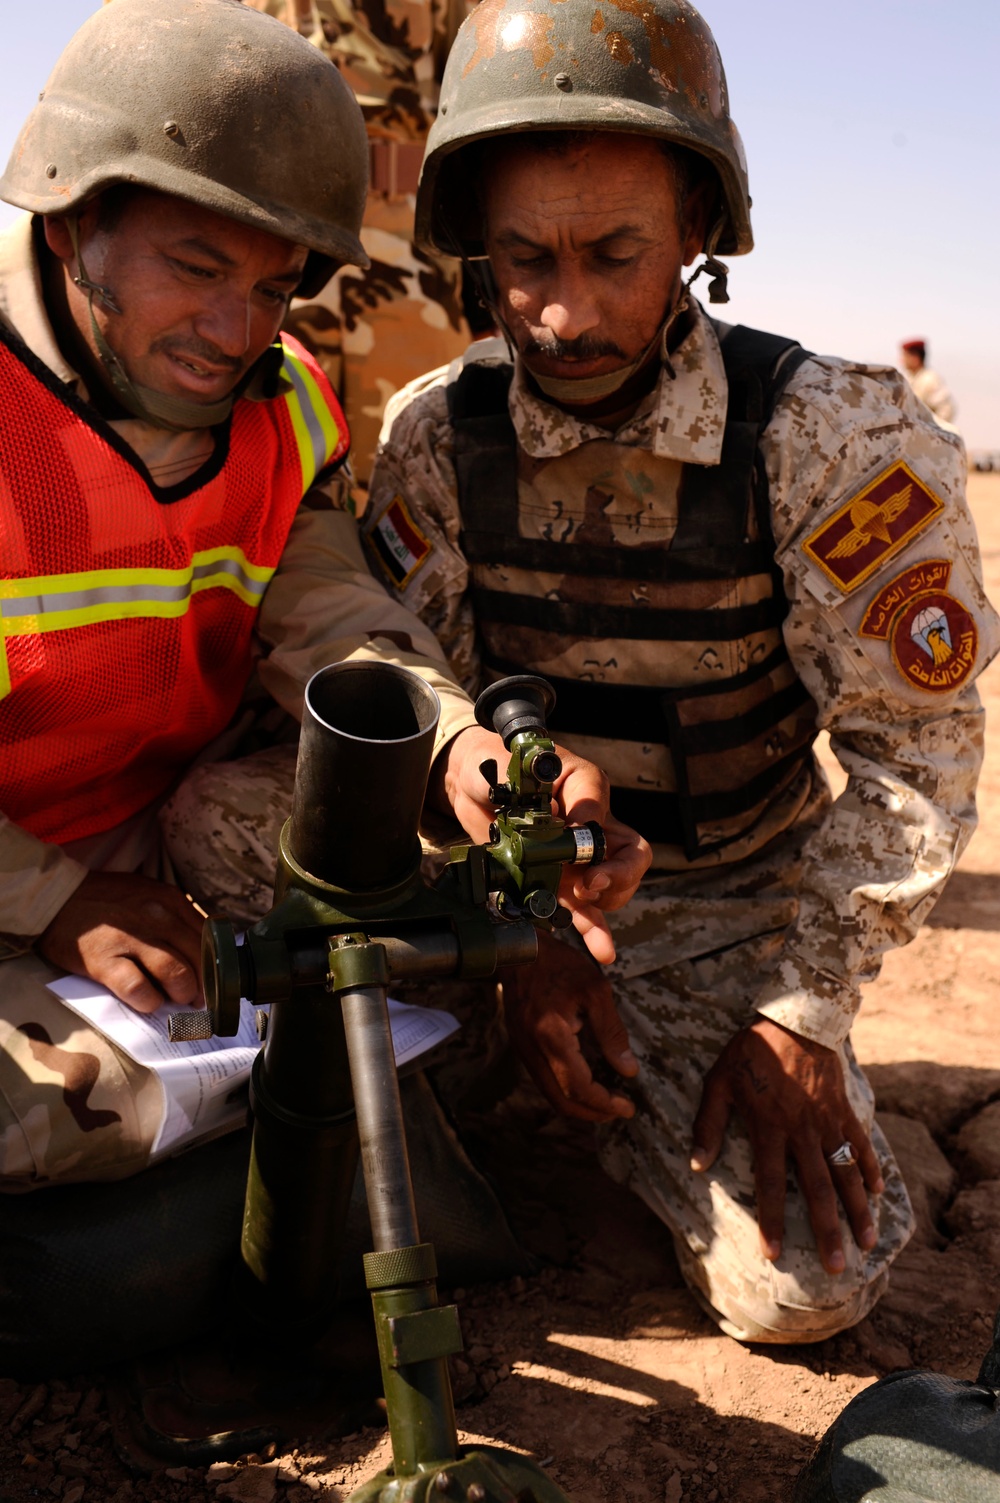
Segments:
[[[244,3],[322,48],[353,89],[368,128],[371,177],[361,242],[371,266],[344,266],[319,298],[295,304],[287,320],[343,403],[362,490],[388,398],[469,343],[460,263],[415,248],[414,194],[444,62],[474,0]]]

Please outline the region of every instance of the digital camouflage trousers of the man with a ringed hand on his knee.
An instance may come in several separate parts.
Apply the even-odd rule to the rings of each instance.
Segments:
[[[839,1276],[824,1272],[789,1169],[782,1257],[764,1258],[753,1159],[735,1115],[713,1168],[707,1174],[690,1168],[705,1073],[732,1034],[753,1021],[752,995],[777,962],[795,917],[800,845],[802,836],[788,836],[729,875],[647,879],[612,923],[618,959],[611,978],[641,1070],[629,1084],[636,1115],[608,1130],[602,1162],[666,1222],[692,1291],[725,1332],[743,1341],[823,1341],[856,1324],[883,1294],[889,1266],[914,1225],[850,1042],[839,1051],[847,1094],[886,1181],[881,1196],[871,1199],[878,1231],[871,1252],[857,1246],[841,1211],[847,1267]]]

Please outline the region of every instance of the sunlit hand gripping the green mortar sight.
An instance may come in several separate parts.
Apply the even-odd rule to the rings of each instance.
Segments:
[[[562,774],[552,788],[556,812],[568,825],[585,825],[589,819],[597,819],[608,840],[608,857],[600,866],[567,867],[559,897],[571,911],[573,924],[594,959],[611,965],[615,945],[602,909],[611,912],[629,902],[653,852],[641,834],[611,813],[611,789],[602,770],[573,752],[562,747],[556,750],[562,761]],[[490,759],[501,771],[507,767],[504,742],[492,730],[471,726],[442,752],[433,774],[438,779],[436,803],[441,804],[444,797],[456,819],[477,842],[489,840],[493,818],[486,779],[480,773],[480,764]]]

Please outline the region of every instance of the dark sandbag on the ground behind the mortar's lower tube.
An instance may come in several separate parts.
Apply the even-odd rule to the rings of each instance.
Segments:
[[[421,1237],[444,1284],[531,1272],[489,1181],[423,1073],[400,1082]],[[0,1372],[105,1366],[218,1329],[239,1249],[250,1132],[110,1184],[0,1201]],[[344,1228],[343,1297],[371,1247],[361,1174]]]

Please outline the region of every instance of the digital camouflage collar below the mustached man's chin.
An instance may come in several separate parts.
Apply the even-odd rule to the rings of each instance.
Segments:
[[[614,434],[617,443],[648,448],[660,458],[683,464],[717,464],[726,422],[726,371],[719,338],[701,304],[692,299],[692,326],[665,364],[660,379],[638,410]],[[528,386],[520,359],[514,361],[510,415],[517,442],[531,458],[556,458],[592,439],[608,439],[608,428],[576,418]]]

